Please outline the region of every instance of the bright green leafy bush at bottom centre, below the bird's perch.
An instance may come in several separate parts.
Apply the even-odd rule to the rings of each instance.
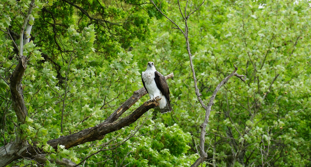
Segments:
[[[129,135],[134,132],[134,128],[135,125],[120,131],[123,135]],[[108,155],[113,160],[104,158],[102,160],[107,161],[103,164],[105,166],[115,166],[116,164],[121,166],[127,164],[128,166],[185,166],[187,162],[197,158],[193,155],[185,155],[189,149],[187,143],[191,139],[190,134],[184,133],[177,124],[165,127],[162,123],[151,123],[143,126],[135,136],[110,151]],[[120,137],[116,142],[122,140],[123,138]],[[90,148],[84,152],[87,154],[87,151],[92,153],[96,149]],[[93,163],[99,162],[98,158],[99,156],[90,158],[87,165],[94,166]]]

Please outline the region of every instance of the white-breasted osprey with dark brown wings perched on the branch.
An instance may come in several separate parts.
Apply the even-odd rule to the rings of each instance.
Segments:
[[[144,85],[150,100],[155,99],[157,96],[161,97],[160,111],[167,113],[172,111],[169,104],[169,86],[162,74],[160,74],[153,62],[149,61],[146,71],[142,72],[142,84]]]

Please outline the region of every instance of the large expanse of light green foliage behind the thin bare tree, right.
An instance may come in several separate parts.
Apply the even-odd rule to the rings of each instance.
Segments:
[[[207,104],[216,85],[234,69],[233,64],[239,67],[239,74],[247,75],[245,83],[231,78],[216,96],[205,139],[206,148],[215,148],[209,149],[208,156],[216,159],[208,163],[307,164],[309,156],[302,153],[308,155],[310,148],[306,117],[310,88],[305,86],[310,82],[311,71],[307,42],[309,4],[285,1],[206,4],[188,22],[189,36],[194,35],[190,46],[201,98]],[[177,9],[167,16],[183,26]],[[173,119],[163,115],[164,121],[173,125],[178,120],[183,130],[197,140],[198,125],[205,113],[197,107],[200,104],[191,88],[193,79],[184,38],[177,30],[169,29],[171,23],[155,23],[152,38],[137,44],[146,47],[134,52],[151,55],[162,74],[174,72],[169,87],[175,114]],[[190,144],[193,149],[188,153],[196,153],[195,144]],[[235,160],[232,149],[239,153]]]

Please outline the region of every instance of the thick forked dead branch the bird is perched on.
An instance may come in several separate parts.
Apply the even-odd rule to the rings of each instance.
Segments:
[[[165,79],[172,78],[174,76],[173,73],[165,76]],[[111,133],[117,131],[125,126],[128,126],[139,119],[145,112],[159,106],[158,101],[161,98],[156,98],[156,100],[144,102],[141,106],[139,106],[135,111],[133,111],[130,115],[117,120],[126,110],[128,110],[133,104],[135,104],[140,97],[146,94],[145,88],[141,88],[133,93],[133,95],[126,100],[114,113],[112,113],[108,118],[108,121],[104,121],[94,127],[90,127],[87,129],[83,129],[77,133],[62,136],[57,139],[51,139],[47,143],[52,146],[54,149],[57,149],[58,145],[65,146],[66,149],[77,146],[79,144],[83,144],[85,142],[91,142],[95,140],[103,139],[107,133]],[[37,152],[43,152],[42,150],[38,150],[35,147],[31,147],[27,144],[27,142],[16,144],[15,142],[10,142],[5,146],[0,147],[0,166],[5,166],[10,164],[12,161],[20,159],[22,157],[33,158],[37,155]],[[40,158],[40,157],[36,157]],[[58,163],[58,161],[55,161]],[[61,160],[59,163],[63,163]],[[66,162],[65,162],[66,163]],[[74,164],[71,164],[74,165]],[[74,165],[75,166],[75,165]]]

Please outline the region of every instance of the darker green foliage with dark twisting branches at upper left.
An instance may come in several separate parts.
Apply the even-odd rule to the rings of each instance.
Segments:
[[[153,6],[144,0],[57,1],[53,6],[46,6],[35,19],[33,30],[40,31],[35,42],[50,58],[59,59],[59,54],[68,51],[62,39],[67,27],[75,25],[82,31],[93,24],[98,33],[94,43],[98,56],[114,59],[117,51],[130,50],[133,39],[144,40],[148,36],[150,10]]]

